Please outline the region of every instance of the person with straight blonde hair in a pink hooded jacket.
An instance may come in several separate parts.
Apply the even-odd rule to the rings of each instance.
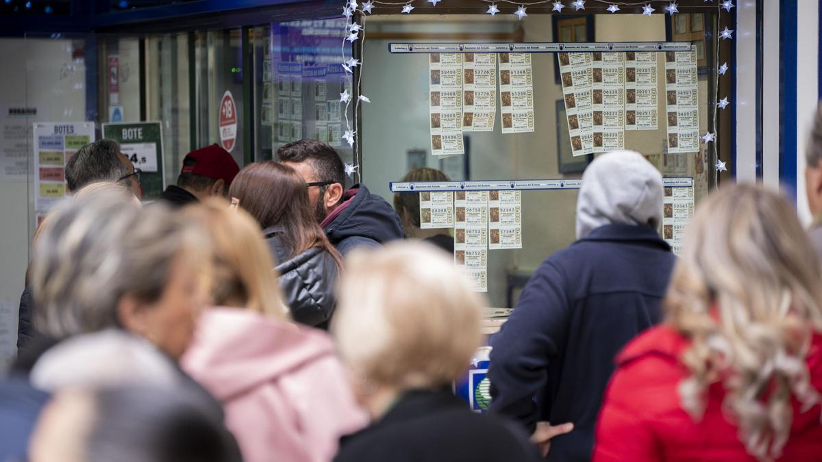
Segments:
[[[210,229],[215,303],[182,368],[225,408],[247,462],[328,461],[367,423],[330,338],[287,319],[274,263],[246,212],[210,200],[183,213]]]

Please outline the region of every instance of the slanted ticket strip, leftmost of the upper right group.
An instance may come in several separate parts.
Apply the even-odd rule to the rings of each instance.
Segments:
[[[591,53],[557,53],[573,155],[593,154],[593,68]]]

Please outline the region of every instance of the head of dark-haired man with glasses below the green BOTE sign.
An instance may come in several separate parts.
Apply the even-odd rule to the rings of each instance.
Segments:
[[[68,190],[76,192],[91,182],[127,181],[121,178],[131,171],[119,153],[120,145],[113,140],[99,140],[81,147],[66,163]]]

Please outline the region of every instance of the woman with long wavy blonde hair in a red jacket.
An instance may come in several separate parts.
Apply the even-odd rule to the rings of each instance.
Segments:
[[[820,263],[762,187],[698,208],[667,321],[617,357],[593,460],[822,460]]]

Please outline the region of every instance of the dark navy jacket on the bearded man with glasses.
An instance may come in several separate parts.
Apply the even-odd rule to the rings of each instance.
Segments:
[[[342,209],[329,224],[323,223],[328,240],[345,255],[356,247],[378,247],[404,238],[403,225],[394,208],[380,196],[357,185],[345,192]]]

